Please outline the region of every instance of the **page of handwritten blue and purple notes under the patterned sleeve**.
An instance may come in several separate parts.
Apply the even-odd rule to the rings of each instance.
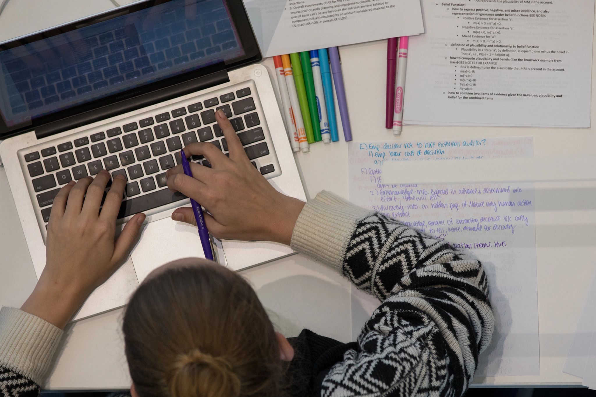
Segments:
[[[383,182],[381,164],[461,159],[473,167],[483,158],[532,155],[532,137],[350,142],[349,146],[350,201],[446,240],[485,266],[495,333],[480,356],[478,376],[540,373],[533,184],[389,185]],[[354,330],[374,307],[362,301],[362,295],[356,296],[361,298],[352,302]]]

